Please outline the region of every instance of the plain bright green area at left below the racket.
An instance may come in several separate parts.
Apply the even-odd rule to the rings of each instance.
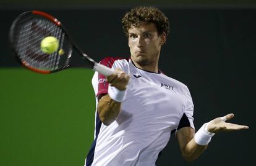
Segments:
[[[83,165],[93,141],[89,69],[0,69],[0,165]]]

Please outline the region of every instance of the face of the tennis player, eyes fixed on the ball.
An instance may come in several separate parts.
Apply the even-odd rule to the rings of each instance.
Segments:
[[[158,35],[155,24],[149,23],[128,30],[129,47],[132,61],[140,67],[158,64],[161,45],[166,35]]]

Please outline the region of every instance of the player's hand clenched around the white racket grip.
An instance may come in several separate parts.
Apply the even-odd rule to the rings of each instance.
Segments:
[[[121,69],[115,69],[107,79],[110,86],[116,87],[118,90],[126,90],[130,76]]]

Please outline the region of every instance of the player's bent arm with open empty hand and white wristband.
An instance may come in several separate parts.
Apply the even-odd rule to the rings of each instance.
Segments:
[[[211,136],[215,135],[215,133],[249,128],[246,125],[226,122],[233,117],[234,114],[227,114],[226,116],[213,119],[212,121],[203,124],[197,133],[195,133],[195,130],[191,127],[184,127],[178,130],[176,136],[184,159],[187,161],[197,159],[197,157],[207,149]]]

